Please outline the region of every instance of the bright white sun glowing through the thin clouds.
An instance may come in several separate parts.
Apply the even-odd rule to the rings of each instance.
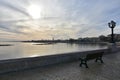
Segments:
[[[27,8],[28,14],[33,18],[33,19],[39,19],[41,18],[41,11],[42,7],[39,5],[30,5]]]

